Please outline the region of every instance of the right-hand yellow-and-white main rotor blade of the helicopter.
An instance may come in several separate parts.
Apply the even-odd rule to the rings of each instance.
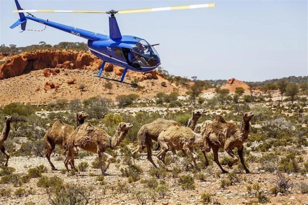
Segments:
[[[195,5],[186,5],[186,6],[169,6],[169,7],[148,8],[148,9],[130,9],[130,10],[119,10],[117,12],[117,14],[131,14],[131,13],[180,10],[180,9],[197,9],[197,8],[207,8],[207,7],[214,7],[214,6],[215,6],[215,3],[209,3],[209,4],[195,4]]]

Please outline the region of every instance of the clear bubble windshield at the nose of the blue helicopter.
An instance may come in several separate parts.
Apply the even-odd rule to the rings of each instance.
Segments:
[[[129,60],[132,64],[139,64],[140,67],[154,67],[160,61],[159,55],[154,47],[143,39],[133,46],[131,53],[134,58]]]

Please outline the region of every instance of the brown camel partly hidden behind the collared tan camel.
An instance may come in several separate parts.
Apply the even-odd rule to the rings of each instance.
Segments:
[[[77,127],[83,124],[87,116],[89,115],[84,112],[79,112],[76,114]],[[74,128],[70,125],[63,123],[62,120],[55,121],[52,127],[47,130],[44,136],[44,141],[46,143],[45,156],[52,170],[55,170],[55,166],[50,161],[50,155],[52,151],[55,149],[56,145],[59,145],[65,150],[63,152],[63,154],[65,154],[67,151],[66,139],[73,131],[74,131]]]

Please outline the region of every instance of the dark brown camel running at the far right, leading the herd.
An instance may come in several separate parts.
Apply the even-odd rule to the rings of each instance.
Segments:
[[[240,161],[245,169],[245,172],[249,173],[249,170],[247,169],[244,162],[243,143],[248,138],[250,126],[249,122],[253,116],[254,114],[252,112],[246,112],[243,114],[241,129],[238,129],[234,123],[225,122],[221,116],[217,117],[218,119],[221,119],[221,121],[215,121],[205,128],[203,134],[204,150],[209,152],[212,148],[214,161],[217,163],[223,173],[228,173],[228,171],[224,170],[219,163],[218,149],[224,148],[225,151],[234,159],[233,162],[228,163],[228,166],[232,167],[234,163],[238,162],[238,159],[233,152],[235,147],[237,147],[237,153],[240,157]]]

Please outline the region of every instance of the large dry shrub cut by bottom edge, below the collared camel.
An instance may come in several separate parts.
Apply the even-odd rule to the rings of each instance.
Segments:
[[[87,204],[90,199],[90,191],[77,184],[66,184],[65,186],[55,189],[54,195],[50,196],[52,204]]]

